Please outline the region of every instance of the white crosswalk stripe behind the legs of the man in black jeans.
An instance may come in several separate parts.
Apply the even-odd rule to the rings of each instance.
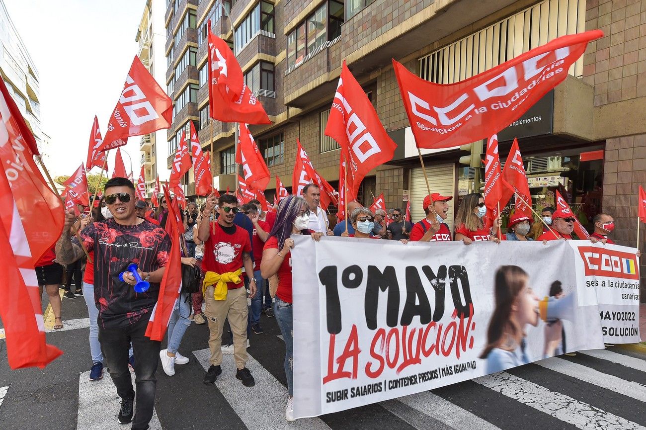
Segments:
[[[130,376],[134,387],[134,372],[130,372]],[[90,381],[89,378],[89,371],[79,376],[76,430],[123,430],[123,425],[119,424],[117,419],[121,399],[107,369],[103,369],[103,379]],[[149,425],[151,430],[161,430],[160,420],[154,410]]]

